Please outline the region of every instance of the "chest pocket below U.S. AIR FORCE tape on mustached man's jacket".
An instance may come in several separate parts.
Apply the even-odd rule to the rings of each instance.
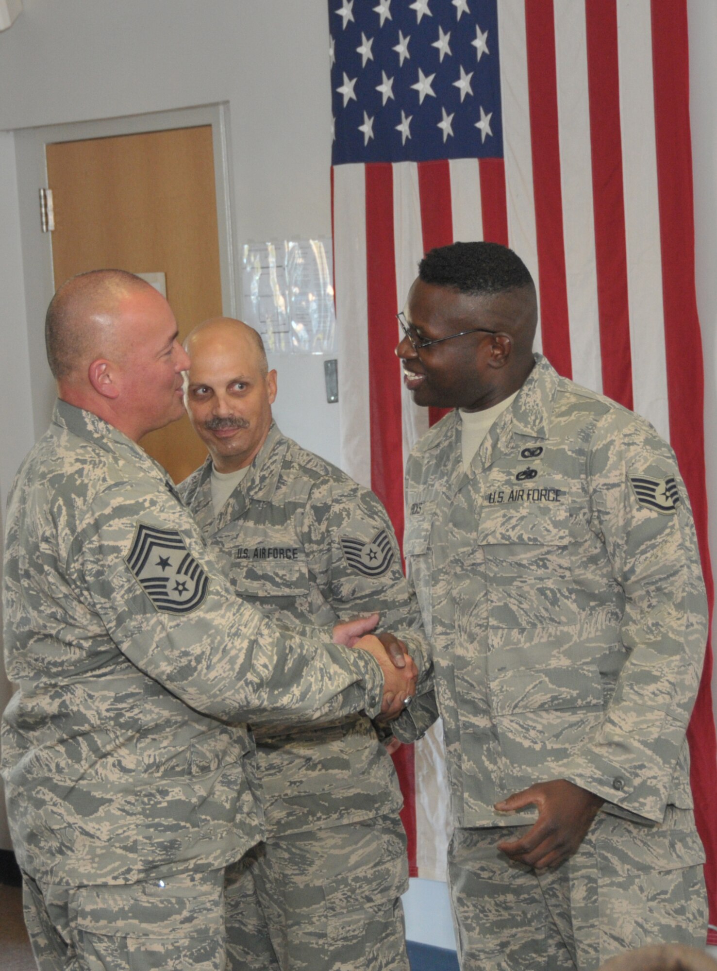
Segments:
[[[309,571],[301,548],[238,547],[231,561],[231,584],[238,595],[265,610],[290,608],[309,595]]]

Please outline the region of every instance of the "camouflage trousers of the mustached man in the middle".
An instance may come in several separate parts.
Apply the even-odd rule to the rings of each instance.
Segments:
[[[408,971],[401,821],[296,833],[227,868],[231,971]]]

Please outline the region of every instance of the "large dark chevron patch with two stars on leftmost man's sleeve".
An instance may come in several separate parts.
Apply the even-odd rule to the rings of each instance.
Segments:
[[[124,562],[158,611],[190,614],[205,600],[209,577],[176,529],[137,523]]]

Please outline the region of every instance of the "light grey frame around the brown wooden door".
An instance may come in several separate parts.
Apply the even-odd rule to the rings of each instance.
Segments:
[[[45,354],[45,312],[54,293],[51,233],[40,227],[39,190],[48,187],[46,146],[55,142],[139,135],[172,128],[211,125],[214,181],[217,193],[222,314],[238,316],[234,239],[234,202],[230,178],[229,107],[227,103],[199,105],[146,115],[70,121],[15,131],[17,195],[19,200],[22,267],[27,311],[27,349],[30,362],[32,417],[35,437],[48,426],[55,398]]]

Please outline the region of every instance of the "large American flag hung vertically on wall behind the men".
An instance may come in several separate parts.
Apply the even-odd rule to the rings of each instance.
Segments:
[[[403,463],[435,414],[393,349],[422,255],[491,240],[538,287],[536,349],[650,419],[707,551],[686,0],[329,0],[344,467],[403,530]],[[711,651],[690,727],[717,943]],[[399,753],[411,872],[441,879],[440,728]]]

